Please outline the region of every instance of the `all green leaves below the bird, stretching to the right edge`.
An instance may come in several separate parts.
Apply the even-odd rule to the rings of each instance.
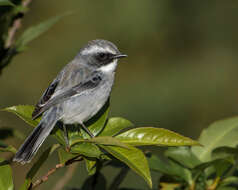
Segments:
[[[33,106],[20,105],[5,108],[3,111],[14,113],[31,126],[35,126],[40,120],[31,119],[33,108]],[[124,118],[107,119],[108,110],[109,108],[106,108],[100,117],[97,116],[96,120],[89,122],[88,128],[95,134],[94,138],[89,138],[83,130],[79,130],[80,126],[70,126],[69,149],[64,142],[62,128],[60,125],[56,126],[51,136],[54,136],[59,144],[48,148],[40,156],[28,172],[21,190],[34,186],[32,178],[47,157],[56,149],[59,164],[62,167],[73,163],[75,158],[84,161],[89,175],[88,180],[85,181],[85,187],[92,183],[92,177],[101,178],[103,176],[100,173],[102,167],[114,166],[118,162],[123,163],[119,166],[122,171],[127,165],[151,188],[150,169],[158,173],[159,185],[163,190],[222,190],[232,189],[234,185],[237,185],[238,133],[236,123],[238,123],[238,117],[215,122],[201,133],[197,142],[166,129],[133,127],[133,124]],[[188,147],[200,144],[202,146]],[[164,151],[163,156],[156,156],[148,152],[145,154],[137,148],[137,146],[148,145],[169,146],[169,148]],[[12,146],[2,146],[1,150],[15,153],[15,148],[12,147],[14,150],[12,151],[9,147]],[[9,178],[11,179],[11,174]]]

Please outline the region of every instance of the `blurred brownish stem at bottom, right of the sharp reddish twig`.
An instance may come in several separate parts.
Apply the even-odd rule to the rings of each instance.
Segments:
[[[78,163],[72,164],[71,166],[68,167],[67,171],[65,172],[65,175],[62,176],[59,180],[58,183],[55,184],[53,190],[61,190],[69,182],[69,180],[73,177],[74,172],[78,166]]]

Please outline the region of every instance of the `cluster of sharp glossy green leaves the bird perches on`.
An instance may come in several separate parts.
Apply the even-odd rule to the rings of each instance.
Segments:
[[[40,120],[31,119],[33,108],[33,106],[20,105],[5,108],[3,111],[14,113],[31,126],[36,126]],[[91,175],[92,168],[96,167],[95,165],[98,162],[103,164],[106,161],[121,161],[143,177],[148,185],[152,187],[147,159],[143,151],[135,146],[199,145],[190,138],[183,137],[182,135],[165,129],[153,127],[136,127],[130,129],[132,127],[130,121],[119,117],[109,118],[107,120],[107,115],[108,108],[101,114],[99,119],[88,126],[89,130],[95,135],[94,138],[89,138],[83,130],[74,130],[75,127],[80,128],[80,126],[71,126],[72,128],[69,126],[69,149],[64,142],[64,134],[60,125],[56,126],[56,129],[51,135],[54,136],[60,144],[58,145],[58,156],[61,164],[65,164],[75,157],[82,157],[87,164],[89,175]],[[122,131],[125,129],[127,130]],[[52,152],[50,150],[51,148],[47,149],[29,171],[22,190],[30,187],[32,177],[49,156],[49,153]],[[5,151],[7,151],[7,149]],[[94,170],[93,172],[96,171]]]

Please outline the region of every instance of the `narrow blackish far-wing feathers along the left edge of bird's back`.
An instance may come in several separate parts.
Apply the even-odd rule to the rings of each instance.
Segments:
[[[44,107],[44,105],[49,101],[49,99],[52,97],[52,95],[55,92],[56,87],[59,84],[59,79],[56,78],[50,85],[49,87],[45,90],[45,92],[43,93],[43,95],[41,96],[40,100],[38,101],[38,103],[35,106],[35,109],[32,113],[32,119],[36,119],[37,117],[39,117],[42,114],[42,108]]]

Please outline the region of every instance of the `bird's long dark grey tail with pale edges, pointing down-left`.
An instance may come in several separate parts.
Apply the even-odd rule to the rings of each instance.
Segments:
[[[13,161],[20,162],[21,164],[25,164],[31,161],[31,159],[36,154],[42,143],[45,141],[46,137],[49,136],[50,132],[57,122],[56,117],[52,117],[52,115],[49,116],[50,118],[43,118],[39,125],[27,137],[27,139],[21,145],[15,157],[13,158]]]

